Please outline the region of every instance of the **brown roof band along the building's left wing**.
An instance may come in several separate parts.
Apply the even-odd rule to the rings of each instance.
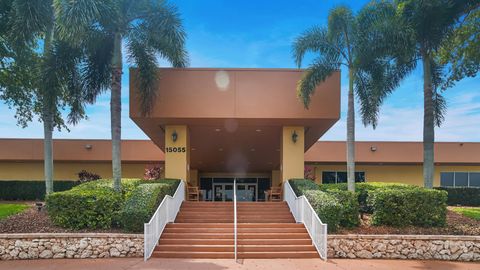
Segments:
[[[110,140],[54,140],[55,161],[111,161]],[[43,140],[0,139],[0,160],[41,161]],[[123,140],[122,160],[127,162],[160,162],[163,152],[151,141]]]

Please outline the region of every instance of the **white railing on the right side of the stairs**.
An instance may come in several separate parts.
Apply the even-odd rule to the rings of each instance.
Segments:
[[[320,220],[304,195],[297,197],[288,181],[283,184],[283,200],[287,202],[295,221],[305,225],[320,258],[327,260],[327,224]]]

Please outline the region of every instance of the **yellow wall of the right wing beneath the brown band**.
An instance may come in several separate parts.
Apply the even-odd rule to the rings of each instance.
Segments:
[[[313,166],[313,165],[312,165]],[[315,181],[322,182],[322,171],[346,171],[346,165],[315,165]],[[365,172],[367,182],[397,182],[423,186],[422,165],[355,165]],[[480,166],[435,166],[434,186],[440,185],[440,172],[480,172]]]

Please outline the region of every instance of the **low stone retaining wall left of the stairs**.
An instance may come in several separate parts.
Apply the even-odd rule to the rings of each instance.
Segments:
[[[0,234],[0,260],[143,257],[142,234]]]

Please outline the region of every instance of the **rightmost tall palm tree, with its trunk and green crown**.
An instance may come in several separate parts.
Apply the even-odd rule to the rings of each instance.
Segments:
[[[478,0],[389,2],[396,12],[384,21],[387,27],[376,37],[377,43],[394,48],[397,51],[395,57],[403,58],[402,68],[406,72],[401,77],[409,74],[418,63],[423,67],[423,176],[426,188],[433,187],[434,127],[441,125],[446,109],[445,100],[437,91],[441,85],[443,67],[435,61],[434,54],[453,31],[458,19],[469,10],[478,8],[478,3]],[[365,99],[368,99],[369,91],[365,89]],[[370,106],[362,109],[365,123],[375,125],[379,107],[391,92],[392,88],[380,89],[371,95],[373,98],[367,102]]]

